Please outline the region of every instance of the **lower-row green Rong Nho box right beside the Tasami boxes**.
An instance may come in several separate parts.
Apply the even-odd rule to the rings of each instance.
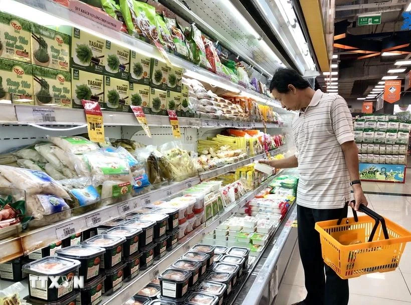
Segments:
[[[69,72],[33,66],[33,87],[36,105],[72,107]]]

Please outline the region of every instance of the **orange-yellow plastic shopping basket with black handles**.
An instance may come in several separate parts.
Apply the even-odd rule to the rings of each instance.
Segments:
[[[322,257],[342,279],[373,272],[387,272],[398,267],[411,233],[361,205],[367,216],[321,221]],[[341,223],[341,221],[343,221]]]

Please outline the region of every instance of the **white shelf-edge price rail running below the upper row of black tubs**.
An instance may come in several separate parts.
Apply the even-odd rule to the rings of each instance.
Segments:
[[[131,296],[133,296],[137,291],[143,288],[147,283],[151,281],[155,276],[165,270],[172,262],[177,260],[181,255],[188,251],[192,246],[199,243],[202,238],[215,230],[218,225],[223,223],[229,217],[233,216],[247,201],[254,198],[259,192],[264,190],[268,182],[271,181],[273,177],[280,175],[281,171],[274,176],[270,176],[263,183],[261,183],[257,188],[248,192],[246,195],[238,199],[232,205],[228,206],[223,213],[214,216],[212,219],[207,221],[207,226],[201,226],[190,232],[182,242],[168,255],[161,259],[157,264],[153,265],[147,270],[141,272],[139,276],[130,281],[128,284],[124,285],[121,290],[116,292],[111,296],[103,297],[102,305],[118,305],[126,302]]]

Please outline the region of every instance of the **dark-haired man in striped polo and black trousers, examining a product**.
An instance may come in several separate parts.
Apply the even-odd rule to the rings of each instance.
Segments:
[[[351,113],[341,96],[313,90],[292,69],[277,70],[270,91],[283,108],[299,112],[292,123],[297,153],[283,160],[260,161],[280,169],[298,167],[300,175],[298,246],[307,297],[294,305],[347,305],[348,280],[341,279],[324,264],[314,226],[318,221],[347,217],[346,202],[351,200],[351,188],[355,210],[359,204],[368,204],[358,176]]]

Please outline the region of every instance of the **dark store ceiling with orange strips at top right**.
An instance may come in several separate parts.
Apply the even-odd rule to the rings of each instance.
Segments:
[[[410,0],[335,0],[334,54],[338,68],[338,94],[348,102],[365,97],[385,75],[404,78],[411,66],[401,66],[403,73],[388,74],[387,70],[398,68],[394,62],[411,57],[411,26],[405,12]],[[381,14],[381,24],[358,26],[359,16]],[[404,18],[405,17],[405,18]],[[409,17],[411,18],[411,17]],[[383,52],[402,53],[381,56]],[[321,86],[325,77],[318,77]],[[402,84],[404,81],[402,81]],[[322,87],[326,91],[326,87]],[[403,88],[402,88],[403,90]]]

